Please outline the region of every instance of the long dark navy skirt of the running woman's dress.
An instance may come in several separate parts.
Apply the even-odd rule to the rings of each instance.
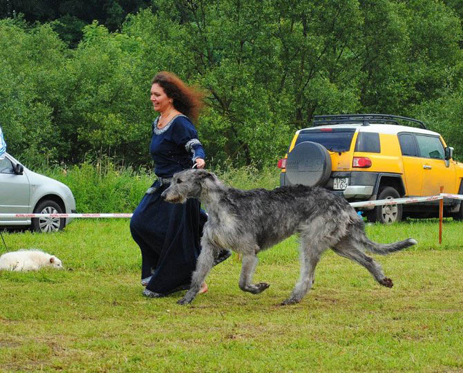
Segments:
[[[144,195],[130,222],[133,240],[142,251],[142,278],[152,276],[147,289],[160,294],[191,283],[207,220],[199,200],[190,198],[185,204],[162,200],[167,187],[156,180],[153,193]]]

